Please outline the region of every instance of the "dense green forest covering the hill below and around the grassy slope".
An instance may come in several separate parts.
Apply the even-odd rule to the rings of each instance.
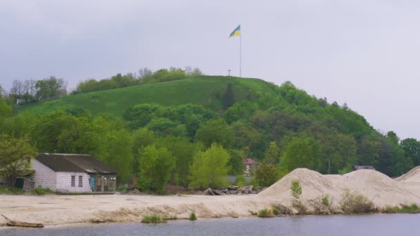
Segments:
[[[142,69],[138,75],[89,79],[69,94],[64,80],[55,77],[27,82],[34,89],[26,86],[20,92],[15,89],[19,81],[14,82],[0,99],[0,143],[27,140],[40,153],[94,155],[118,170],[119,181],[130,181],[134,175],[138,188],[158,192],[168,183],[225,186],[226,175],[243,175],[245,157],[259,163],[252,173],[258,186],[269,186],[299,167],[343,174],[353,165],[372,165],[394,177],[420,164],[417,139],[400,140],[392,131],[382,134],[346,104],[310,96],[289,81],[281,86],[258,82],[267,86],[265,92],[244,90],[242,81],[250,79],[221,77],[222,88],[211,91],[202,104],[152,101],[126,106],[120,115],[93,112],[88,106],[17,112],[19,104],[37,106],[46,99],[82,98],[86,93],[99,96],[124,87],[140,90],[150,83],[173,86],[173,81],[186,78],[191,83],[216,79],[191,68]],[[52,80],[56,86],[48,86]],[[171,88],[188,94],[180,84]],[[7,165],[2,155],[0,164]]]

